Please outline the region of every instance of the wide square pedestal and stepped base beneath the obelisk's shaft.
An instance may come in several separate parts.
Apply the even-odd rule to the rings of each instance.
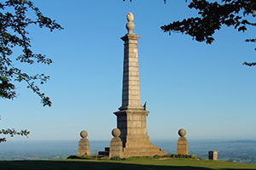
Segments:
[[[146,129],[146,116],[149,111],[142,108],[127,109],[116,111],[113,114],[117,116],[117,125],[121,131],[124,147],[124,157],[131,156],[163,156],[166,151],[149,143],[149,137]]]

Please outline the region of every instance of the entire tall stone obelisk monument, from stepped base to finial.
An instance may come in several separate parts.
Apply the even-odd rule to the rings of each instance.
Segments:
[[[121,132],[120,139],[123,142],[124,157],[166,155],[166,151],[149,143],[146,129],[146,116],[149,111],[144,110],[141,105],[140,95],[137,55],[137,40],[140,36],[133,32],[135,25],[132,13],[127,14],[127,20],[128,33],[121,37],[125,42],[122,105],[119,111],[113,113],[117,116],[117,127]]]

